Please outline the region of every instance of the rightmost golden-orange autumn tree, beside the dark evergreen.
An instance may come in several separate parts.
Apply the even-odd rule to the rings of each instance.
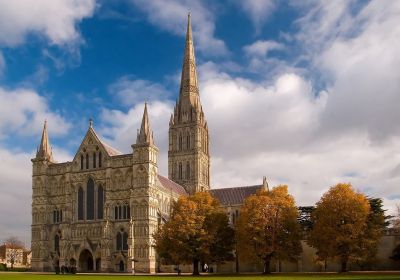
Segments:
[[[337,184],[317,202],[312,212],[313,229],[308,243],[321,259],[340,259],[341,271],[350,260],[360,258],[367,230],[370,205],[365,195],[350,184]]]

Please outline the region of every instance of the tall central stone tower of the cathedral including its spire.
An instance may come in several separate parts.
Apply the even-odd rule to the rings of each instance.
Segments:
[[[208,126],[200,103],[190,13],[179,98],[169,123],[168,176],[189,194],[210,189]]]

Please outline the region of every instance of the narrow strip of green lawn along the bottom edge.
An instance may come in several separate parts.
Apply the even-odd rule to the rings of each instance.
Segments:
[[[31,273],[18,273],[18,272],[10,272],[10,273],[0,273],[0,279],[4,280],[123,280],[127,278],[132,278],[135,280],[163,280],[163,279],[203,279],[203,280],[232,280],[232,278],[243,279],[243,280],[262,280],[262,279],[274,279],[274,280],[318,280],[318,279],[327,279],[327,280],[362,280],[362,279],[374,279],[374,280],[385,280],[385,279],[399,279],[400,280],[400,272],[399,273],[346,273],[346,274],[337,274],[337,273],[295,273],[295,274],[271,274],[268,276],[265,275],[202,275],[198,277],[189,276],[189,275],[165,275],[165,276],[139,276],[139,275],[129,275],[129,274],[121,274],[121,275],[93,275],[93,274],[77,274],[77,275],[55,275],[55,274],[31,274]]]

